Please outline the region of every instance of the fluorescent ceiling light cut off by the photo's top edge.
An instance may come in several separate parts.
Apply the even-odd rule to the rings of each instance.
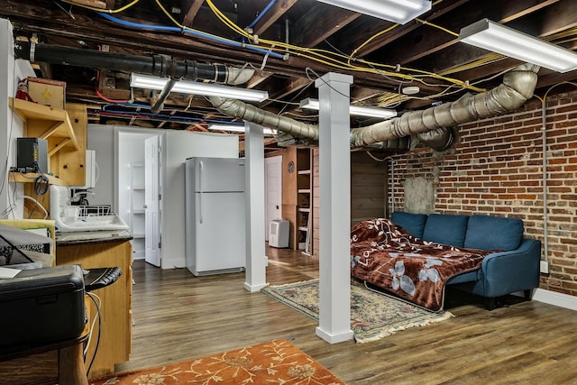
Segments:
[[[318,0],[360,14],[404,24],[431,9],[430,0]]]

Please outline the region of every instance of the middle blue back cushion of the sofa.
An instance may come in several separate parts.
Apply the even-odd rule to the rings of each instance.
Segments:
[[[467,215],[429,214],[423,230],[423,239],[463,247],[468,219]]]

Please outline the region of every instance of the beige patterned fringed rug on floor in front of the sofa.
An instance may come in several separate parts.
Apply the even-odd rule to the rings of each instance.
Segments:
[[[268,286],[261,292],[318,321],[318,280]],[[453,315],[422,307],[366,289],[351,281],[351,329],[358,343],[379,340],[399,330],[443,321]]]

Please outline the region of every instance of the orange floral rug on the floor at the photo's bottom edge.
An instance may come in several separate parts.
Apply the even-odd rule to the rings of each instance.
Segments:
[[[116,374],[91,385],[344,384],[287,340],[272,340],[187,362]]]

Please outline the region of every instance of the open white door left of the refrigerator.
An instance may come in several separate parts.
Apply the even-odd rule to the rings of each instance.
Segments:
[[[144,260],[160,267],[160,152],[158,136],[146,139],[144,152],[144,213],[146,228]]]

